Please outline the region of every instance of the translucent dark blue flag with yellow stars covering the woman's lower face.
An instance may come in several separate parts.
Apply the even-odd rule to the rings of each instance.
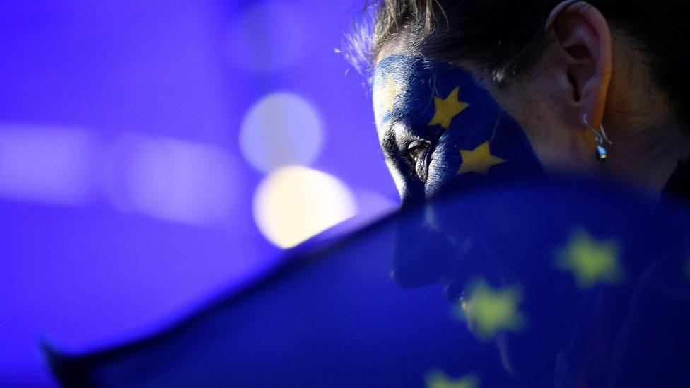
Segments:
[[[688,295],[682,208],[573,177],[460,184],[156,335],[49,354],[75,387],[687,387]]]

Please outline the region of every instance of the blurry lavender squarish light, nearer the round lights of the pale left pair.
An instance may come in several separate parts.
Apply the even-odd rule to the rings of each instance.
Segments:
[[[197,225],[228,221],[235,171],[219,148],[129,135],[109,170],[110,197],[121,210]]]

